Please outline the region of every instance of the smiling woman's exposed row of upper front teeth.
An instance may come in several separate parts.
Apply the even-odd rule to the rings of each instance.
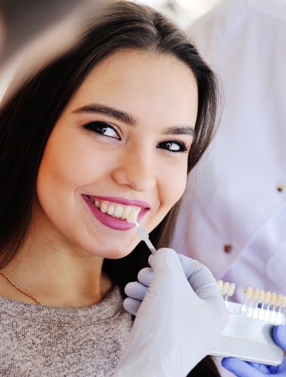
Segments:
[[[117,203],[112,203],[108,201],[91,200],[94,202],[95,207],[100,209],[103,213],[108,213],[112,217],[117,219],[127,219],[128,222],[135,223],[137,221],[137,216],[140,212],[140,207],[129,207]]]

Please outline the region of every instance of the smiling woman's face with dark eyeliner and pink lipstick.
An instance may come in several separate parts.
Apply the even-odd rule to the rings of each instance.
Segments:
[[[131,252],[130,209],[149,233],[184,192],[197,107],[195,77],[173,56],[123,50],[98,64],[48,139],[42,228],[93,255]]]

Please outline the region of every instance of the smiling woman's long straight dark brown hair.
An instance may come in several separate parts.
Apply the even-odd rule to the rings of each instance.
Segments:
[[[218,82],[197,49],[176,24],[154,9],[119,0],[108,3],[83,37],[63,56],[32,77],[10,98],[0,116],[0,269],[15,257],[29,231],[36,178],[46,142],[61,112],[96,64],[123,48],[175,56],[193,71],[198,87],[198,115],[188,172],[213,137]],[[159,248],[172,235],[178,205],[151,232]],[[147,265],[141,243],[121,259],[106,259],[103,269],[122,295],[127,282]]]

